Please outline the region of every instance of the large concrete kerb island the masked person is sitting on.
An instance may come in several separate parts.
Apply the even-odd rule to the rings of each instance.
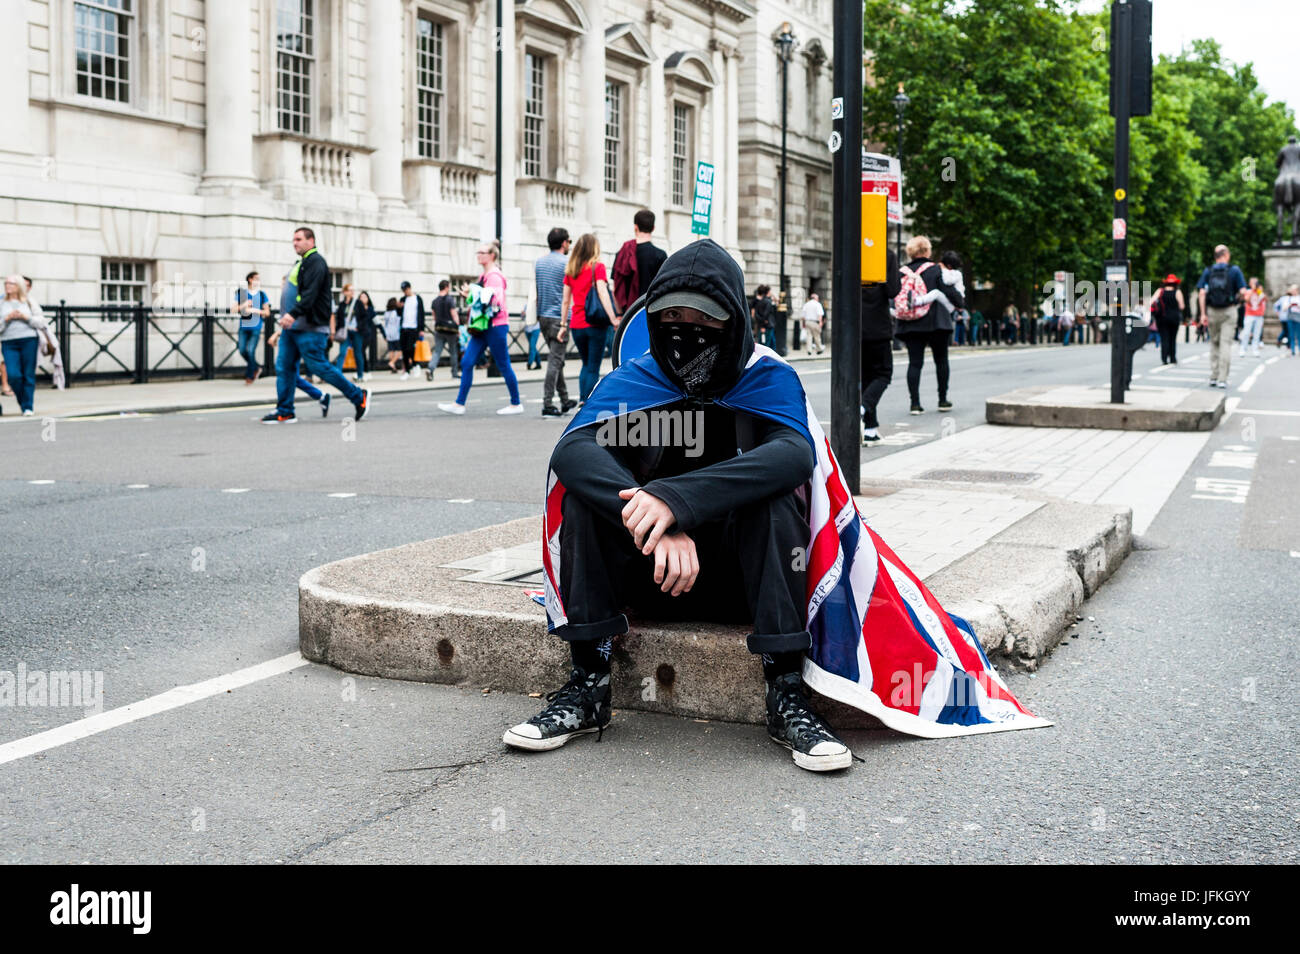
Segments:
[[[871,503],[887,504],[880,498],[897,490],[875,487]],[[1000,656],[1000,664],[1026,668],[1061,641],[1083,599],[1132,546],[1127,508],[1036,496],[1028,516],[926,577],[950,612],[970,620],[996,663]],[[299,581],[299,643],[306,658],[347,672],[543,693],[563,682],[569,658],[528,589],[541,589],[541,517],[309,571]],[[745,649],[746,632],[632,617],[630,632],[615,641],[614,706],[762,723],[762,672]],[[879,725],[833,701],[816,702],[833,725]]]

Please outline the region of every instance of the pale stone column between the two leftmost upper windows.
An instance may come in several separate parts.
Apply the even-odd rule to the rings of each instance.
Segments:
[[[252,62],[248,0],[204,6],[207,130],[200,191],[256,190],[252,169]]]

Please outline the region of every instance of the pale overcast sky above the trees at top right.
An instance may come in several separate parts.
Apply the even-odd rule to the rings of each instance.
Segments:
[[[1083,0],[1079,9],[1109,9],[1109,0]],[[1154,0],[1150,43],[1156,56],[1175,56],[1196,39],[1216,39],[1223,56],[1253,62],[1269,100],[1300,113],[1300,1]]]

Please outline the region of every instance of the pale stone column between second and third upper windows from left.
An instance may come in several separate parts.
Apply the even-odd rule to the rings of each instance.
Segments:
[[[365,4],[365,131],[374,149],[370,153],[370,190],[384,205],[403,203],[402,101],[406,71],[400,66],[402,26],[400,0],[369,0]]]

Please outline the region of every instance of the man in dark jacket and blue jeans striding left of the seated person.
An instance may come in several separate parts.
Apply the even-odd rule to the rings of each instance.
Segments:
[[[294,389],[298,385],[298,363],[321,381],[334,385],[356,408],[356,420],[370,409],[369,389],[358,387],[329,363],[330,307],[329,265],[316,250],[316,233],[303,226],[294,231],[294,251],[299,260],[289,273],[281,302],[280,326],[285,329],[276,356],[276,409],[261,419],[263,424],[294,424]]]

